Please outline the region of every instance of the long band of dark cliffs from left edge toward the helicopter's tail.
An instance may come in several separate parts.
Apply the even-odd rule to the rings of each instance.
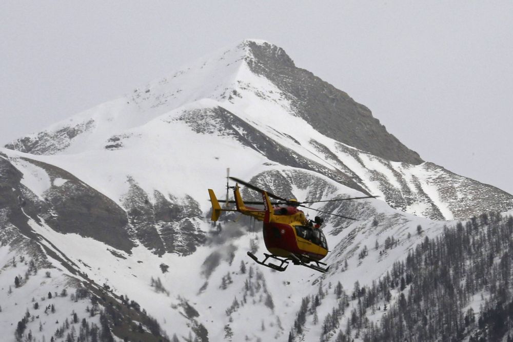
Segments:
[[[21,183],[23,174],[0,155],[0,210],[6,226],[12,224],[27,236],[34,236],[27,223],[30,217],[38,224],[44,219],[55,231],[92,237],[128,253],[135,246],[134,240],[159,255],[188,255],[205,242],[200,228],[202,211],[190,196],[179,200],[155,191],[151,203],[148,194],[129,179],[125,211],[70,173],[36,160],[23,160],[43,169],[52,182],[44,198],[37,196]]]

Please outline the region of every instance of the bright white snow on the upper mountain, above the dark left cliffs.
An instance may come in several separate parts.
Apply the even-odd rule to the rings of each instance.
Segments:
[[[361,179],[358,182],[362,188],[387,200],[387,193],[403,193],[404,184],[397,176],[400,174],[409,191],[418,197],[415,203],[404,207],[410,213],[428,215],[430,211],[427,209],[432,203],[446,219],[455,217],[453,208],[439,194],[441,186],[435,182],[439,171],[429,170],[424,164],[410,166],[389,162],[359,151],[327,138],[294,115],[288,99],[290,95],[248,67],[246,61],[254,58],[247,47],[248,42],[267,43],[246,39],[238,45],[219,49],[170,76],[136,88],[131,94],[50,126],[47,131],[55,132],[94,123],[89,130],[71,138],[69,146],[63,145],[61,152],[37,160],[70,171],[118,204],[128,191],[128,177],[150,197],[153,190],[159,190],[178,197],[189,194],[200,198],[205,188],[218,184],[227,167],[232,168],[232,174],[243,177],[257,173],[247,170],[262,170],[262,164],[271,164],[258,151],[244,148],[233,138],[215,133],[223,127],[214,129],[212,126],[214,132],[201,134],[176,121],[187,111],[221,107],[274,142],[311,159],[312,163],[335,172],[345,172],[345,167],[349,168]],[[245,134],[241,128],[235,127],[235,130]],[[327,147],[345,166],[319,155],[312,140]],[[121,147],[105,149],[116,142]],[[191,164],[192,159],[202,160],[201,165]],[[147,171],[147,165],[152,166],[151,172]],[[194,166],[189,168],[188,165]],[[375,174],[382,175],[385,180],[378,179]],[[177,178],[180,182],[174,182]],[[415,186],[414,178],[420,182],[423,193]],[[188,184],[186,193],[182,184]]]

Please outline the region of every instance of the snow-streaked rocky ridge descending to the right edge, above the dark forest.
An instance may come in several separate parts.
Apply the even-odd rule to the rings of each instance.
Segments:
[[[433,163],[394,163],[343,144],[338,150],[353,159],[353,168],[356,163],[366,170],[366,183],[377,187],[392,208],[450,220],[468,219],[485,211],[506,211],[513,206],[510,194]]]

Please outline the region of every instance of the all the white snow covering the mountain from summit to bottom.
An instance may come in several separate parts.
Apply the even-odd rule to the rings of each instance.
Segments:
[[[266,43],[251,41],[256,44]],[[236,222],[223,222],[221,235],[215,238],[210,236],[209,242],[191,255],[157,256],[142,245],[126,253],[92,238],[58,233],[46,225],[42,217],[39,217],[41,223],[29,219],[30,227],[41,237],[39,244],[68,258],[77,270],[87,274],[96,284],[108,284],[114,293],[134,298],[150,315],[157,318],[169,334],[187,336],[190,332],[192,323],[184,316],[181,307],[185,300],[200,312],[200,317],[196,319],[208,329],[210,340],[224,339],[226,325],[233,327],[233,341],[245,340],[246,334],[249,340],[284,340],[292,327],[301,299],[318,291],[319,280],[323,280],[325,289],[329,283],[334,285],[341,281],[347,292],[351,291],[357,280],[361,285],[370,285],[373,280],[386,274],[394,262],[404,259],[408,250],[415,248],[426,236],[439,235],[446,222],[413,215],[425,215],[430,206],[428,200],[439,208],[446,219],[454,217],[435,182],[441,171],[433,171],[425,164],[411,166],[389,162],[315,131],[304,119],[294,115],[285,94],[265,77],[250,71],[245,63],[247,58],[252,56],[244,44],[221,49],[181,68],[171,76],[137,88],[131,94],[52,125],[47,129],[48,132],[93,122],[86,131],[71,138],[69,146],[61,146],[63,149],[52,155],[31,155],[0,148],[0,152],[6,154],[23,173],[22,184],[40,198],[44,198],[45,191],[51,186],[62,187],[68,179],[51,179],[45,170],[31,163],[30,159],[70,172],[121,207],[133,180],[148,194],[150,202],[155,200],[154,191],[164,196],[172,195],[178,200],[189,195],[200,203],[206,214],[210,209],[206,189],[211,188],[224,195],[227,167],[230,167],[231,175],[242,179],[251,179],[265,171],[278,171],[287,178],[288,174],[299,171],[312,176],[315,179],[312,184],[301,188],[293,186],[292,192],[299,199],[308,198],[317,182],[325,182],[336,189],[332,193],[325,193],[326,199],[362,195],[317,172],[282,166],[269,160],[259,151],[242,145],[239,140],[226,134],[219,123],[207,122],[210,125],[208,130],[197,133],[185,120],[180,119],[191,111],[205,113],[214,108],[224,108],[274,142],[309,158],[312,164],[318,163],[335,172],[342,172],[342,165],[338,165],[336,160],[326,160],[311,142],[315,140],[324,145],[361,179],[358,182],[361,182],[359,185],[362,188],[382,196],[381,199],[385,199],[386,187],[397,192],[403,191],[401,180],[413,196],[419,196],[418,200],[407,206],[409,213],[394,210],[380,199],[362,199],[358,202],[360,219],[357,222],[344,222],[343,227],[327,222],[324,231],[328,237],[330,253],[324,261],[331,268],[324,275],[300,266],[290,265],[286,272],[281,273],[254,264],[246,252],[250,240],[258,238],[259,250],[256,254],[262,257],[265,246],[261,234],[247,231],[240,233],[245,228]],[[235,127],[235,130],[243,136],[247,134],[241,127]],[[120,146],[106,149],[105,146],[112,143],[112,139],[109,142],[112,137],[118,139],[114,143]],[[376,179],[376,173],[386,179],[386,184]],[[398,174],[404,178],[398,179]],[[420,183],[427,197],[422,197],[414,179]],[[312,207],[323,209],[320,204]],[[305,210],[305,213],[315,215],[313,211]],[[378,220],[377,226],[373,225],[374,218]],[[418,225],[423,228],[422,234],[417,234]],[[210,228],[210,223],[201,223],[203,231],[208,232]],[[378,241],[380,246],[383,245],[388,236],[399,239],[399,244],[380,255],[383,248],[376,250],[374,244]],[[364,246],[368,248],[368,255],[359,260],[358,253]],[[213,253],[219,253],[221,259],[207,277],[201,270],[204,261],[212,259]],[[7,246],[0,247],[3,291],[6,291],[7,284],[12,283],[19,271],[8,265],[12,256],[19,255]],[[342,271],[345,259],[349,268]],[[49,261],[55,267],[51,269],[52,274],[58,275],[46,279],[40,270],[37,277],[31,277],[24,285],[25,296],[29,293],[29,296],[33,294],[36,298],[42,297],[55,287],[62,288],[70,277],[86,281],[80,275],[70,273],[60,261],[51,258]],[[246,274],[239,270],[241,261],[248,269]],[[161,264],[169,266],[167,273],[162,272]],[[254,272],[252,281],[257,278],[257,274],[265,280],[275,308],[271,310],[261,303],[259,295],[263,292],[257,291],[255,298],[250,298],[246,305],[232,313],[230,321],[226,309],[234,297],[238,301],[243,299],[250,267]],[[233,284],[222,290],[220,285],[226,274],[230,274]],[[160,278],[168,294],[156,292],[150,286],[151,278]],[[206,283],[206,289],[201,291]],[[331,311],[333,296],[330,289],[326,299],[329,305],[319,308],[321,323]],[[13,327],[9,324],[16,323],[12,317],[20,319],[26,306],[30,305],[27,304],[27,298],[22,297],[22,291],[16,290],[9,296],[7,304],[2,304],[4,312],[9,312],[10,316],[0,313],[2,331],[12,331]],[[57,299],[59,306],[65,306],[65,298]],[[16,307],[13,303],[24,304]],[[473,306],[479,305],[477,299],[473,303]],[[354,305],[351,303],[348,310]],[[378,321],[381,315],[382,312],[376,312],[371,318]],[[45,324],[49,325],[54,319],[50,317],[44,321]],[[278,317],[281,317],[283,329],[278,327]],[[61,321],[63,318],[58,319]],[[265,331],[261,330],[262,321]],[[314,326],[309,316],[304,340],[317,340],[321,323]],[[33,332],[35,330],[32,328]]]

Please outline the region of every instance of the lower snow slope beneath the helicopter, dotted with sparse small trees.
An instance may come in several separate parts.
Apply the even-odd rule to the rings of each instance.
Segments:
[[[30,168],[22,170],[28,171]],[[332,196],[359,194],[313,172],[289,167],[281,168],[279,172],[289,179],[298,193],[330,193]],[[263,171],[260,176],[265,174],[266,171]],[[318,178],[318,182],[305,187],[301,178],[312,176]],[[92,238],[58,233],[46,225],[41,217],[40,223],[30,219],[29,224],[35,234],[44,237],[42,243],[51,241],[49,247],[65,255],[68,264],[75,265],[78,274],[86,275],[95,284],[109,285],[118,295],[136,298],[137,303],[156,317],[169,334],[187,337],[193,327],[202,325],[208,331],[209,340],[224,339],[226,327],[230,327],[233,333],[232,340],[283,340],[292,328],[301,298],[318,291],[319,279],[323,279],[325,286],[341,281],[346,289],[350,289],[356,280],[368,284],[382,276],[394,261],[404,257],[409,248],[422,240],[424,236],[416,235],[419,224],[425,227],[428,236],[435,236],[440,229],[437,222],[395,211],[375,199],[350,205],[344,208],[344,212],[361,219],[355,223],[345,222],[344,227],[336,220],[328,220],[325,232],[331,253],[327,262],[332,266],[329,273],[322,276],[318,272],[293,266],[284,273],[257,267],[247,257],[246,251],[252,245],[251,240],[257,241],[257,254],[265,251],[259,229],[248,232],[247,227],[238,223],[223,222],[221,235],[211,235],[203,247],[188,256],[157,256],[143,246],[133,248],[130,253],[114,250]],[[378,225],[373,224],[375,218],[380,221]],[[211,229],[206,222],[202,228],[205,231]],[[413,237],[408,238],[408,232]],[[376,241],[383,244],[387,236],[395,236],[401,243],[388,251],[385,257],[373,250],[372,246]],[[363,246],[368,246],[370,253],[362,263],[356,251]],[[7,254],[3,260],[7,264],[10,258],[11,254]],[[342,273],[340,267],[344,260],[348,260],[349,268]],[[57,260],[50,258],[50,262],[63,275],[80,281],[86,279],[69,273]],[[246,267],[245,273],[241,271],[241,263]],[[162,272],[162,264],[168,266],[165,273]],[[376,264],[380,267],[374,267]],[[3,279],[10,276],[5,275],[2,275]],[[226,279],[227,275],[230,280],[223,288],[223,278]],[[162,282],[161,291],[151,286],[152,278]],[[47,292],[45,288],[40,289],[38,296],[41,296],[41,291]],[[269,305],[269,297],[272,305]],[[246,303],[243,305],[244,300]],[[240,303],[235,310],[232,307],[234,301]],[[188,317],[185,308],[189,306],[199,316]],[[75,307],[73,309],[77,310]],[[227,310],[230,314],[227,314]],[[324,313],[320,311],[319,314]],[[6,320],[5,324],[8,323],[9,320]],[[317,332],[312,329],[310,334],[315,336]]]

